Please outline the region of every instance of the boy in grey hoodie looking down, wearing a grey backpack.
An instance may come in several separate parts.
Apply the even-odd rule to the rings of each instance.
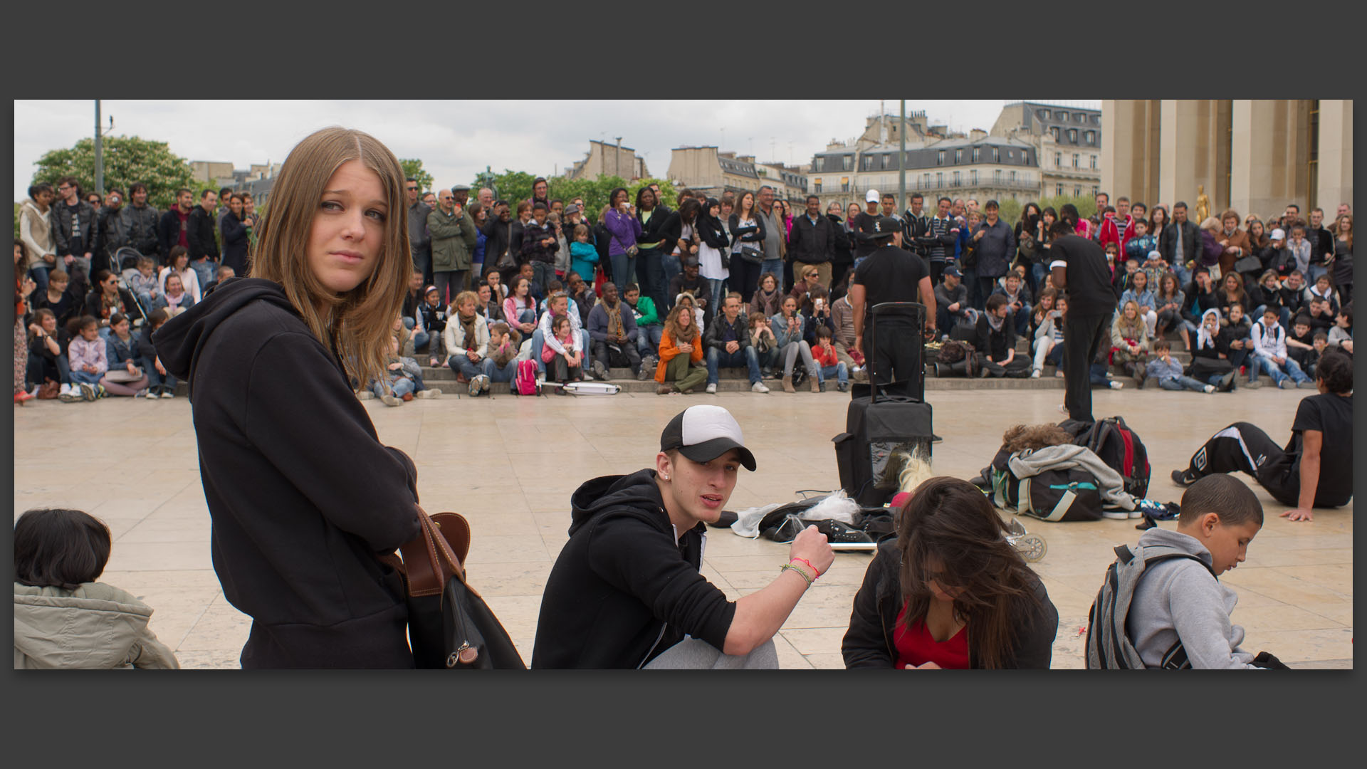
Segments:
[[[1177,531],[1151,528],[1139,538],[1141,546],[1166,545],[1200,560],[1156,562],[1135,587],[1125,635],[1146,666],[1162,666],[1177,640],[1193,669],[1267,666],[1239,647],[1244,628],[1229,621],[1239,594],[1217,579],[1244,560],[1262,527],[1263,506],[1252,490],[1230,475],[1207,475],[1182,494]]]

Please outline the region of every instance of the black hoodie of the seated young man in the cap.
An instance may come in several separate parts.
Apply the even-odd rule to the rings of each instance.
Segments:
[[[723,647],[735,603],[699,573],[707,525],[675,543],[653,469],[595,478],[570,505],[532,668],[640,668],[684,634]]]

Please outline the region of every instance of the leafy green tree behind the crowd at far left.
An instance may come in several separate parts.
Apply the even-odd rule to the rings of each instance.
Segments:
[[[165,209],[175,204],[175,190],[194,189],[190,163],[167,146],[164,141],[138,137],[104,137],[104,189],[119,187],[128,194],[128,185],[148,186],[148,203]],[[34,163],[34,183],[48,182],[53,187],[62,177],[75,177],[82,190],[94,189],[94,140],[83,138],[70,149],[53,149]],[[215,187],[217,189],[217,187]]]

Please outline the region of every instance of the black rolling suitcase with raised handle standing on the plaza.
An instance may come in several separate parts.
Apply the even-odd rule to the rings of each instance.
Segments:
[[[874,307],[871,342],[878,342],[878,323],[901,316],[915,326],[915,334],[899,334],[905,348],[898,350],[905,356],[899,371],[910,369],[913,376],[891,384],[856,384],[845,417],[845,432],[831,441],[835,443],[835,462],[839,468],[841,487],[864,508],[876,508],[897,494],[897,476],[901,473],[902,457],[919,454],[931,456],[931,405],[925,402],[924,335],[920,333],[925,320],[925,307],[917,302],[884,302]],[[875,353],[876,346],[868,350]],[[872,371],[875,360],[868,357]],[[871,376],[872,379],[872,376]]]

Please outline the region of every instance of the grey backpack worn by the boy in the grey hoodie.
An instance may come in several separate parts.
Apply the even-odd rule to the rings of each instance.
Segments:
[[[1207,571],[1210,569],[1206,561],[1169,545],[1136,545],[1133,550],[1128,545],[1115,547],[1115,561],[1106,568],[1106,580],[1096,591],[1096,599],[1087,613],[1088,670],[1137,670],[1146,668],[1144,661],[1139,657],[1139,650],[1125,634],[1129,603],[1135,598],[1135,588],[1139,586],[1140,577],[1144,576],[1144,569],[1173,558],[1191,558]],[[1210,572],[1210,575],[1214,577],[1215,572]],[[1165,670],[1191,669],[1192,664],[1187,658],[1181,639],[1163,653],[1159,666]]]

